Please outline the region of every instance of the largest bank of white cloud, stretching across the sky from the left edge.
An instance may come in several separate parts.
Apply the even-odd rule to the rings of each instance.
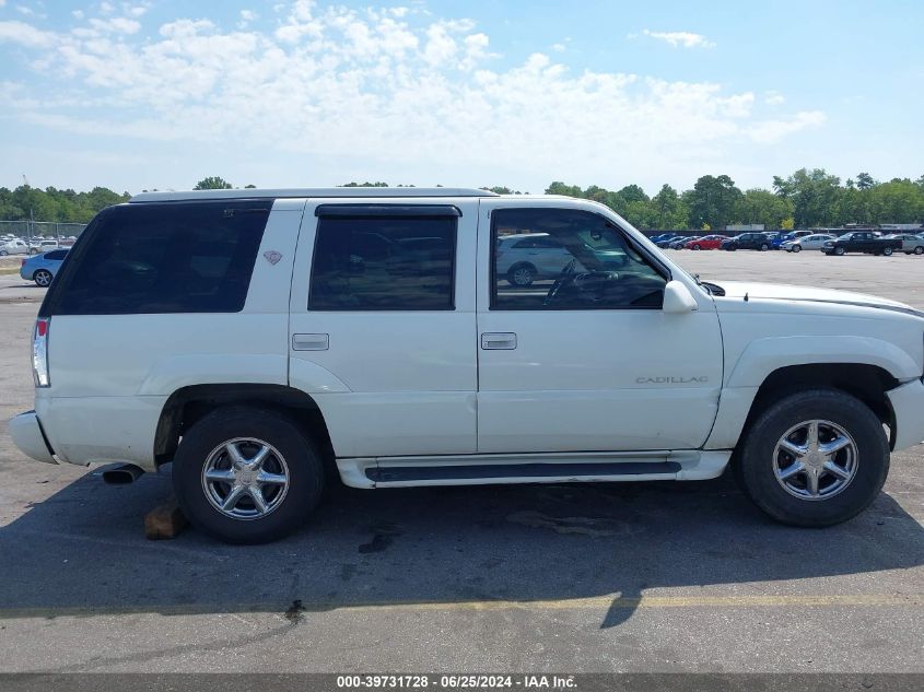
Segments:
[[[779,107],[771,118],[765,96],[712,82],[573,71],[553,52],[502,68],[475,22],[418,10],[297,0],[267,30],[183,19],[141,34],[126,7],[71,32],[0,22],[0,44],[35,49],[25,69],[59,75],[52,103],[48,85],[27,75],[5,86],[16,94],[7,115],[77,134],[177,142],[179,155],[241,142],[280,157],[359,156],[370,168],[432,165],[445,183],[463,168],[676,179],[824,121]]]

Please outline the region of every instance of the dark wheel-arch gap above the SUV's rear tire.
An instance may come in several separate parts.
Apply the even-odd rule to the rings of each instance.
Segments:
[[[243,404],[278,410],[311,436],[328,473],[336,472],[334,445],[315,400],[304,391],[282,385],[194,385],[174,391],[164,403],[154,436],[157,466],[173,459],[185,431],[223,406]]]

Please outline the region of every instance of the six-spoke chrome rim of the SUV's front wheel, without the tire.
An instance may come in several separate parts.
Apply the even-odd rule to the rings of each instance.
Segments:
[[[787,430],[773,450],[773,473],[799,500],[827,500],[842,492],[859,466],[856,443],[830,421],[805,421]]]

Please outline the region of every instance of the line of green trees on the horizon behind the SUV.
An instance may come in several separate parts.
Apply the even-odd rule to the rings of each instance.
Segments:
[[[210,176],[199,180],[195,189],[232,187],[224,178]],[[387,187],[387,184],[348,183],[344,187]],[[523,193],[507,187],[484,189]],[[596,200],[645,230],[718,231],[739,223],[762,223],[767,228],[924,223],[924,176],[916,180],[877,181],[868,173],[859,173],[842,183],[823,168],[800,168],[785,178],[773,176],[772,189],[741,190],[727,175],[704,175],[689,190],[678,191],[665,184],[652,197],[634,184],[609,190],[596,185],[581,188],[554,181],[545,192]],[[43,190],[28,185],[13,190],[0,187],[0,220],[32,218],[35,221],[87,223],[104,207],[124,202],[129,197],[129,192],[119,195],[104,187],[95,187],[89,192],[54,187]]]

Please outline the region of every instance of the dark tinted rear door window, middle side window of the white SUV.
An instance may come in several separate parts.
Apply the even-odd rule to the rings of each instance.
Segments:
[[[320,216],[308,309],[452,310],[454,216]]]

